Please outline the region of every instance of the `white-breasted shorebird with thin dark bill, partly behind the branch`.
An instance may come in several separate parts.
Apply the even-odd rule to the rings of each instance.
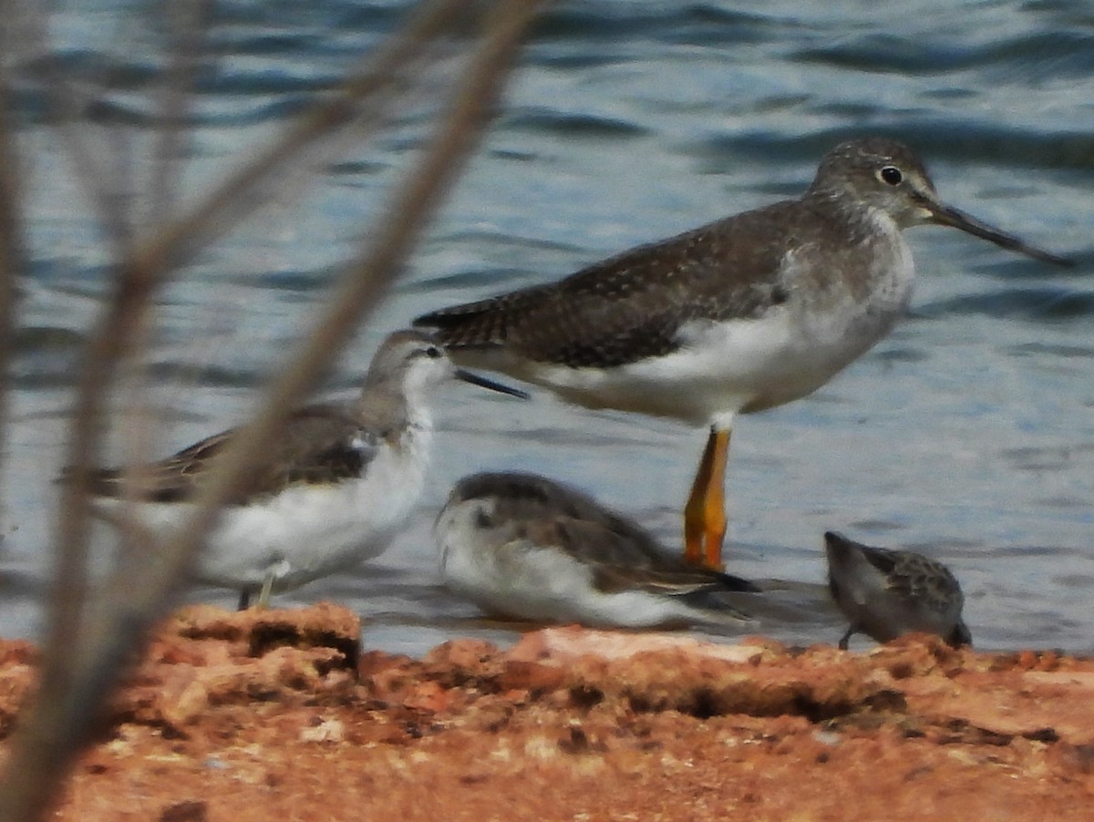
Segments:
[[[433,431],[427,395],[450,377],[527,396],[456,369],[427,334],[391,334],[357,400],[309,406],[290,416],[254,481],[221,512],[195,582],[237,589],[241,610],[258,591],[265,607],[271,591],[380,554],[421,494]],[[131,512],[152,533],[177,528],[232,435],[225,431],[149,466],[96,471],[96,508],[114,521]]]

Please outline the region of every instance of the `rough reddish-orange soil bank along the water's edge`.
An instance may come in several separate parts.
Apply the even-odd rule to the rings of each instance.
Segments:
[[[1094,818],[1090,660],[578,627],[414,660],[359,633],[329,604],[181,611],[57,819]],[[4,739],[35,657],[0,642]]]

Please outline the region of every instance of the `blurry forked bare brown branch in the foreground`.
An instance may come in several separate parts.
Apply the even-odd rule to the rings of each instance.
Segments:
[[[304,124],[248,166],[198,209],[178,221],[162,235],[138,246],[119,267],[118,287],[106,316],[90,347],[81,375],[78,415],[73,424],[70,457],[77,482],[63,492],[67,512],[60,530],[62,571],[79,580],[61,583],[57,592],[73,594],[69,604],[55,597],[47,662],[33,712],[16,735],[12,766],[0,791],[0,820],[40,818],[50,801],[53,789],[67,773],[75,753],[84,745],[100,715],[100,706],[109,689],[126,670],[135,648],[153,621],[174,601],[182,574],[189,567],[201,544],[202,535],[212,525],[219,506],[246,481],[264,444],[274,436],[289,409],[313,384],[334,352],[352,333],[357,322],[395,278],[398,263],[409,253],[423,223],[435,210],[441,195],[470,149],[500,92],[502,79],[516,44],[536,7],[535,0],[510,0],[494,10],[482,45],[473,58],[455,105],[447,114],[421,164],[414,172],[387,210],[388,216],[374,235],[372,250],[349,266],[342,285],[316,328],[305,336],[305,344],[293,364],[277,380],[267,402],[219,467],[218,477],[202,493],[195,516],[182,532],[165,544],[155,547],[154,562],[140,567],[121,567],[108,585],[96,608],[86,614],[85,631],[79,631],[83,600],[83,565],[86,518],[88,466],[97,455],[103,392],[109,384],[118,359],[125,354],[139,317],[165,273],[177,266],[200,244],[224,230],[223,220],[237,220],[252,203],[259,180],[295,155],[311,142],[350,121],[357,101],[385,85],[382,71],[349,84],[339,98],[321,106]],[[414,35],[396,43],[380,60],[380,67],[397,75],[401,58],[420,51],[426,32],[439,32],[449,15],[463,3],[439,2],[417,22]],[[394,58],[400,58],[395,61]],[[93,373],[88,373],[92,371]],[[73,540],[73,549],[66,539]],[[72,587],[74,585],[74,587]]]

